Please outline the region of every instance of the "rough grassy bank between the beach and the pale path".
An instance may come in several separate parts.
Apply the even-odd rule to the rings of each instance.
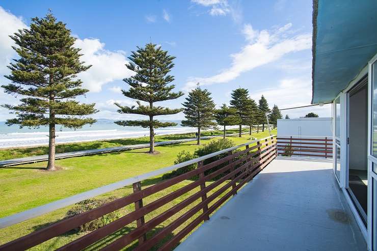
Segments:
[[[244,132],[248,129],[244,128]],[[227,133],[236,133],[238,129],[226,130]],[[223,131],[204,131],[201,133],[202,136],[210,135],[222,135]],[[181,134],[169,134],[169,135],[156,135],[155,142],[161,141],[171,141],[171,140],[182,140],[184,138],[195,137],[195,132],[191,133],[181,133]],[[66,153],[73,151],[83,151],[90,149],[100,149],[108,147],[119,147],[128,146],[136,144],[149,143],[149,136],[146,137],[135,137],[135,138],[120,138],[117,140],[100,140],[100,141],[90,141],[90,142],[78,142],[78,143],[67,143],[58,144],[56,146],[56,153]],[[22,158],[36,155],[48,154],[48,146],[38,146],[38,147],[24,147],[24,148],[9,148],[0,150],[0,160]]]

